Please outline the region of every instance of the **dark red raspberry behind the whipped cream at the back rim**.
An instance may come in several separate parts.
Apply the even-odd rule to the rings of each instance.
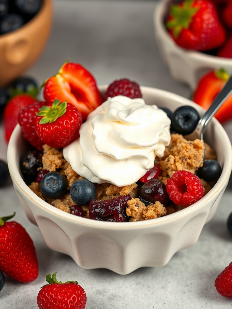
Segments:
[[[111,83],[106,90],[105,101],[109,97],[112,98],[116,95],[125,95],[131,99],[142,98],[140,86],[128,78],[115,80],[113,83]]]

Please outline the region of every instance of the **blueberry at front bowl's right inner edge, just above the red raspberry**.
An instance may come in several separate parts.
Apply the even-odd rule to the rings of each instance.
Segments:
[[[215,160],[205,160],[203,166],[199,167],[197,176],[205,181],[215,181],[221,176],[221,166]]]

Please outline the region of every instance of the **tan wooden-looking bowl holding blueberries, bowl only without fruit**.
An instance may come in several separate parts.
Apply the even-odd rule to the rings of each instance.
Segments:
[[[19,29],[0,35],[0,87],[23,74],[41,55],[52,26],[52,0]]]

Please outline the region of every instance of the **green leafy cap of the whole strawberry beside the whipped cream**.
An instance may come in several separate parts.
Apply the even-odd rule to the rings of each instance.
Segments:
[[[60,103],[60,100],[55,99],[52,106],[43,105],[39,112],[36,112],[37,116],[43,116],[40,120],[40,124],[52,123],[62,116],[67,110],[67,101]]]

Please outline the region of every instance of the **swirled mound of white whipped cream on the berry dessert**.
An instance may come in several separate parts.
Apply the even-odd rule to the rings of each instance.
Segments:
[[[170,119],[143,99],[118,95],[88,115],[80,138],[63,149],[72,169],[95,183],[135,183],[164,155]]]

